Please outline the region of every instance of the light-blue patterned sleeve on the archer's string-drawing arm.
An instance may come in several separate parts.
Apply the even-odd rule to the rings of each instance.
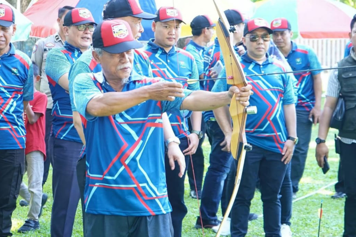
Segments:
[[[95,120],[95,117],[87,112],[89,101],[95,96],[102,95],[98,87],[94,85],[90,74],[79,74],[73,82],[73,102],[77,111],[87,120]]]

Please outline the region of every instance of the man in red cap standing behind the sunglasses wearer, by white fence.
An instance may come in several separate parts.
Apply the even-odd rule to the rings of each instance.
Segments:
[[[286,18],[276,18],[271,22],[273,42],[286,57],[293,71],[319,69],[321,65],[312,48],[291,41],[293,31]],[[321,71],[295,73],[298,80],[297,131],[300,143],[295,146],[292,160],[291,179],[293,194],[299,190],[298,184],[303,176],[307,159],[312,125],[319,122],[321,114]],[[295,196],[295,195],[294,195]]]

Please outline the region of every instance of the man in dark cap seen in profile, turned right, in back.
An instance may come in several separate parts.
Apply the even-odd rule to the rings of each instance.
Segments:
[[[184,49],[193,55],[195,63],[197,64],[199,79],[204,79],[204,52],[206,50],[206,45],[210,42],[211,37],[213,37],[215,26],[215,23],[213,23],[206,15],[196,16],[193,18],[192,22],[190,22],[193,39],[189,41],[189,43]],[[200,90],[204,90],[204,81],[200,81]],[[189,165],[187,171],[190,186],[189,195],[192,198],[200,199],[204,175],[204,153],[203,148],[201,147],[205,138],[204,120],[201,120],[201,131],[192,130],[192,124],[190,120],[189,128],[190,132],[197,133],[200,139],[197,151],[192,155],[193,167],[192,165]],[[193,168],[195,184],[193,177]],[[195,191],[195,185],[197,186],[197,192]]]

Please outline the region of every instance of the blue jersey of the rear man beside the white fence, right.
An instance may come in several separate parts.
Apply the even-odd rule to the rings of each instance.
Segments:
[[[286,59],[293,71],[321,68],[318,57],[313,49],[304,45],[297,45],[295,42],[292,42],[292,50]],[[320,72],[321,71],[307,71],[294,73],[297,79],[298,90],[298,101],[297,106],[295,106],[296,110],[310,111],[313,109],[315,105],[313,76]]]

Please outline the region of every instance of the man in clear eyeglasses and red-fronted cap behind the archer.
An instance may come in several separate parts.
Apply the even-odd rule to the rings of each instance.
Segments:
[[[53,159],[52,237],[72,236],[80,197],[76,166],[83,143],[73,127],[68,72],[74,61],[90,48],[95,26],[88,9],[68,11],[63,21],[66,42],[63,48],[52,49],[47,55],[46,73],[53,98],[52,135],[48,142]]]

